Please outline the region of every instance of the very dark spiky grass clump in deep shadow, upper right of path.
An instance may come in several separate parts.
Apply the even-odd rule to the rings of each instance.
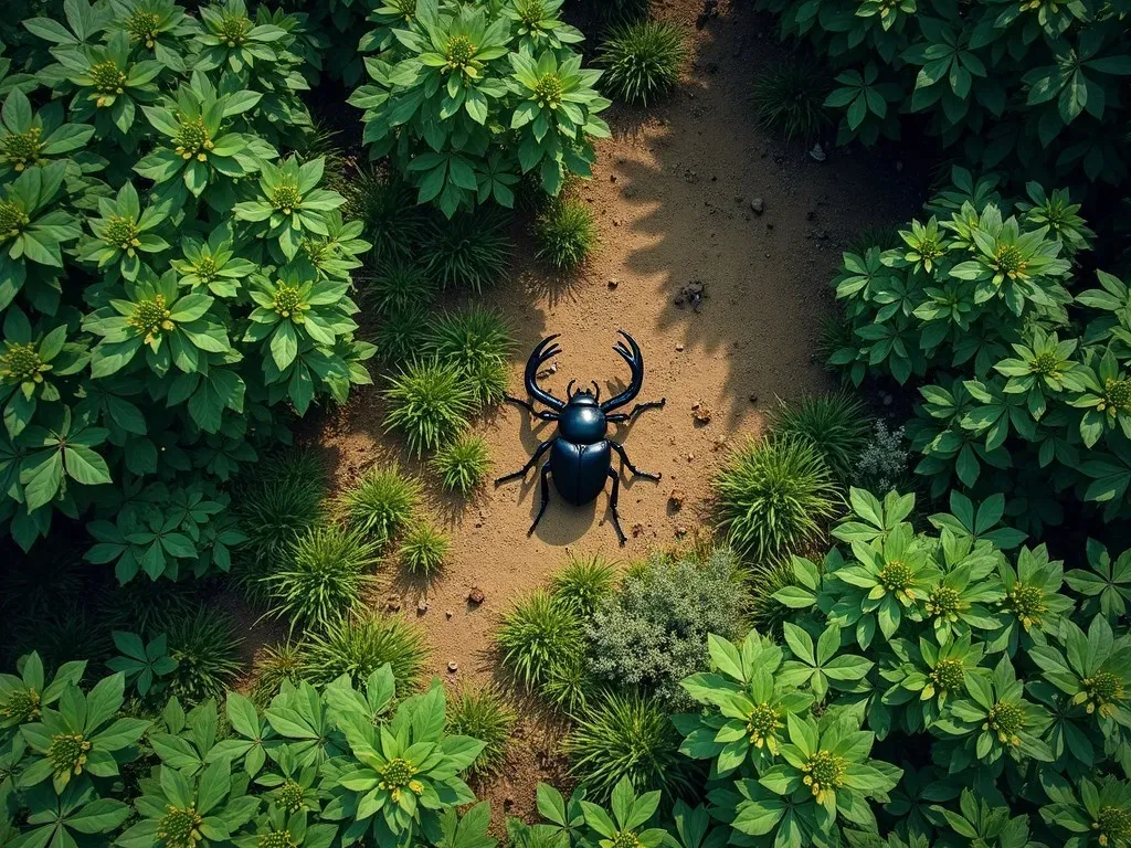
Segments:
[[[754,118],[786,140],[812,140],[831,122],[824,107],[828,93],[828,75],[820,62],[800,58],[777,62],[754,81]]]

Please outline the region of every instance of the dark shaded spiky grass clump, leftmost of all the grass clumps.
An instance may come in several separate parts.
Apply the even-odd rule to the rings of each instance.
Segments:
[[[240,642],[235,620],[223,609],[201,607],[178,615],[169,626],[169,656],[176,660],[165,680],[170,692],[185,704],[208,698],[219,701],[240,673]]]

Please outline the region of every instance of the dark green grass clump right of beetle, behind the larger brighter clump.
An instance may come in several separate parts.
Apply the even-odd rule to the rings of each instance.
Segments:
[[[867,408],[845,391],[783,403],[772,416],[777,435],[808,439],[829,470],[844,482],[852,477],[872,434]]]

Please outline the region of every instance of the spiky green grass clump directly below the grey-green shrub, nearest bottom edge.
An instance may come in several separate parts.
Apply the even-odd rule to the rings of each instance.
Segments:
[[[659,703],[637,692],[610,692],[578,717],[566,739],[570,773],[597,801],[622,778],[637,793],[659,789],[671,801],[691,788],[683,736]]]

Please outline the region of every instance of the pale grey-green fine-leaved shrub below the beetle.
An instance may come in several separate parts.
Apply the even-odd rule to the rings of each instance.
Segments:
[[[679,682],[707,665],[707,634],[737,632],[741,608],[729,550],[705,559],[653,554],[586,623],[589,670],[610,684],[679,698]]]

